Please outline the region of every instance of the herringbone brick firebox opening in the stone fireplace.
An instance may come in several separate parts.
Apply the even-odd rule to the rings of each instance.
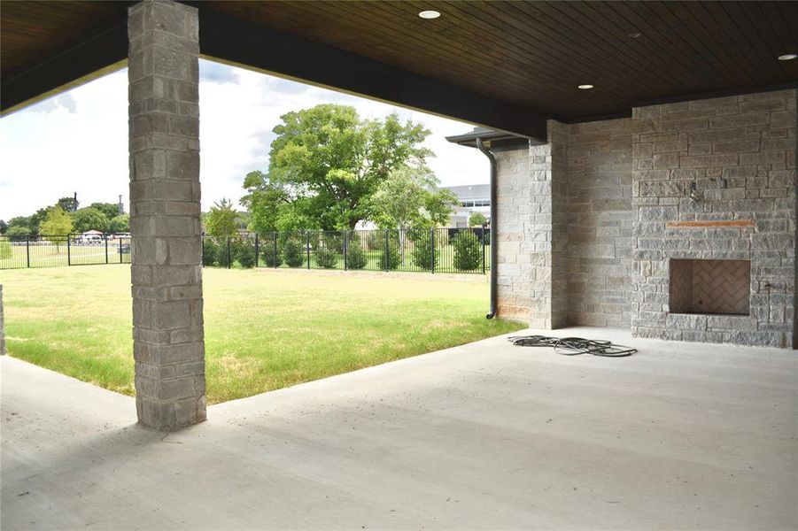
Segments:
[[[670,312],[748,315],[749,260],[670,260]]]

